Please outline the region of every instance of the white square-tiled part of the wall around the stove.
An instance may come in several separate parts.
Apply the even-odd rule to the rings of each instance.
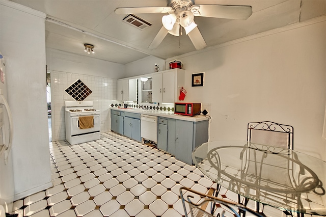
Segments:
[[[117,98],[117,80],[69,72],[50,71],[52,141],[66,139],[65,101],[74,101],[65,90],[80,79],[92,93],[85,99],[94,102],[94,108],[101,111],[101,132],[110,130],[110,105],[120,103]]]

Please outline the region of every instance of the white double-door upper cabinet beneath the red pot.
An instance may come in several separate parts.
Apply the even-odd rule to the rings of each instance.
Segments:
[[[174,103],[179,101],[180,89],[184,86],[182,69],[170,69],[153,74],[153,102]]]

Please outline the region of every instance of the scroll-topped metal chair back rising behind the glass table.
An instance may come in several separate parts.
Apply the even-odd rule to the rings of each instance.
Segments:
[[[251,122],[247,141],[293,150],[293,127],[270,121]]]

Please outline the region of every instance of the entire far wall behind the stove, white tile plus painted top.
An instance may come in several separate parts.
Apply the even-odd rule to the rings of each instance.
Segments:
[[[85,99],[100,110],[101,132],[111,129],[110,105],[117,103],[117,78],[124,77],[124,65],[55,49],[46,50],[46,64],[51,74],[52,141],[66,139],[65,101],[74,101],[66,92],[77,79],[92,91]]]

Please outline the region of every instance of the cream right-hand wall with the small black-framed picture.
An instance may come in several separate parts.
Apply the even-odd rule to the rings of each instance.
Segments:
[[[248,122],[273,121],[294,127],[294,149],[325,159],[325,17],[177,59],[185,101],[202,102],[213,118],[210,141],[246,140]],[[198,72],[204,87],[191,86]]]

